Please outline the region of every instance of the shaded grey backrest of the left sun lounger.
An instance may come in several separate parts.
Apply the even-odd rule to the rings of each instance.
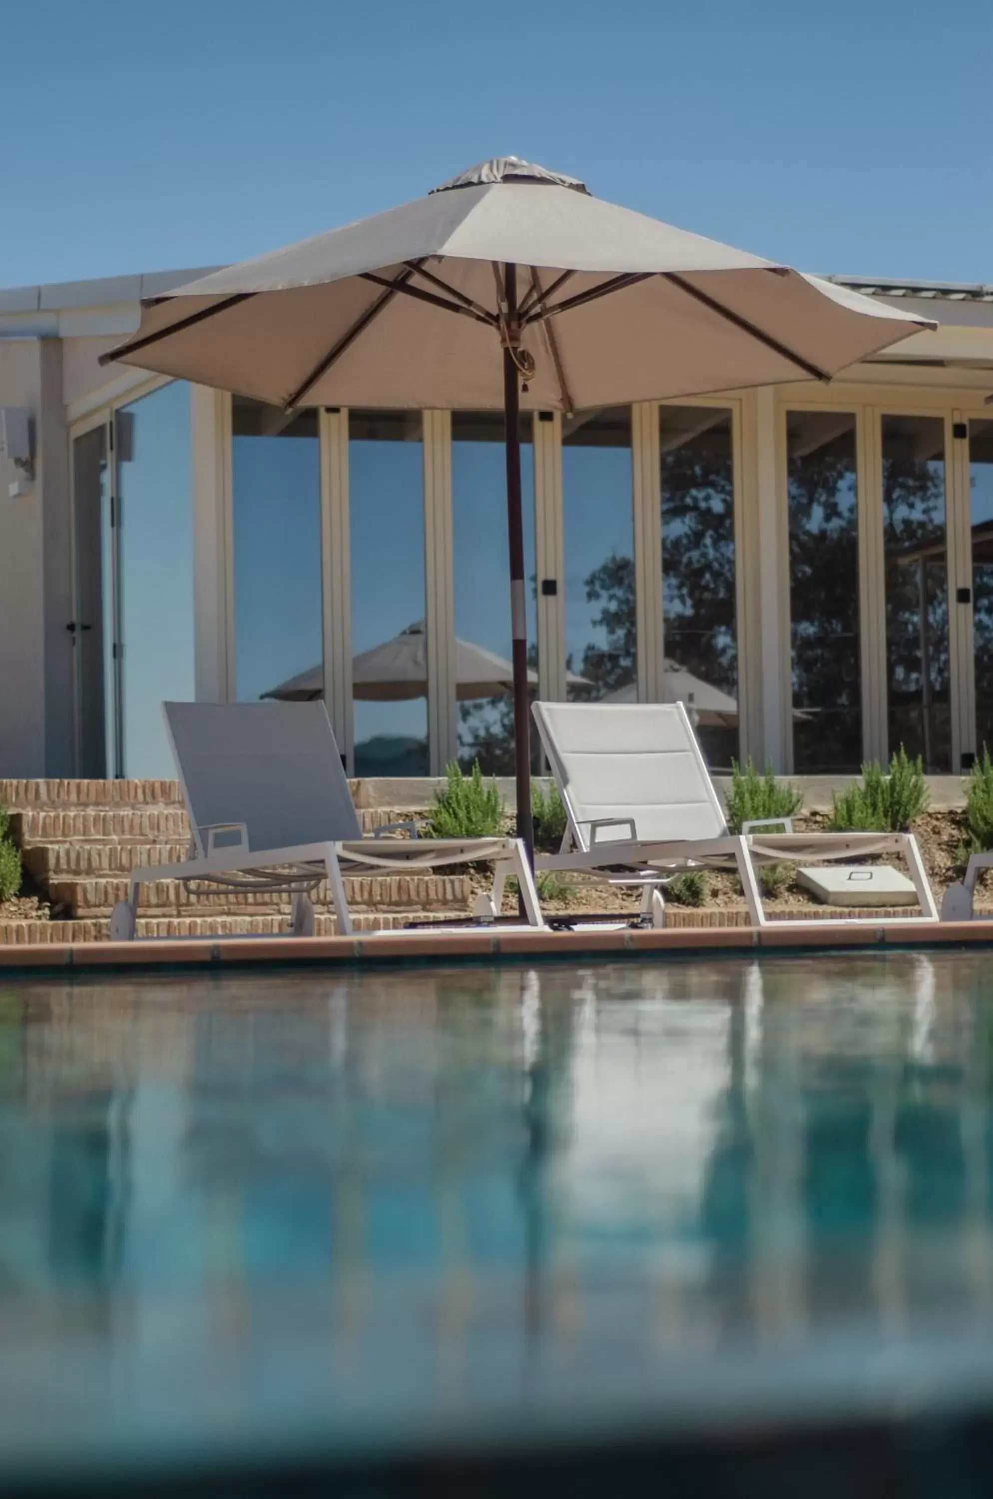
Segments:
[[[196,829],[244,823],[249,848],[361,838],[324,703],[163,703]]]

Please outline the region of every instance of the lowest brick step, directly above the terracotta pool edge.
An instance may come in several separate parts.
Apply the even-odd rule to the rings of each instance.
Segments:
[[[464,911],[359,911],[352,913],[352,925],[358,932],[400,931],[416,920],[460,920]],[[277,937],[289,929],[289,920],[280,916],[151,916],[138,922],[139,937]],[[334,937],[334,916],[318,914],[316,937]],[[0,947],[27,946],[34,943],[79,943],[108,941],[106,917],[70,922],[3,922],[0,920]]]

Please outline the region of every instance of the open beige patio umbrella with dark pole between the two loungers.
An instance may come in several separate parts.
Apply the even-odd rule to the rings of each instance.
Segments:
[[[502,408],[517,817],[532,845],[518,409],[830,379],[933,327],[500,156],[142,306],[105,361],[292,409]]]

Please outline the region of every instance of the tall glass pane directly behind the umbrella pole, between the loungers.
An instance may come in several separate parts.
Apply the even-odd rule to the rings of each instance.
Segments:
[[[538,675],[535,607],[535,453],[532,417],[521,417],[527,660]],[[452,412],[452,537],[458,758],[494,775],[514,773],[511,588],[506,538],[503,415]],[[491,661],[482,652],[496,657]],[[532,736],[535,748],[536,735]]]

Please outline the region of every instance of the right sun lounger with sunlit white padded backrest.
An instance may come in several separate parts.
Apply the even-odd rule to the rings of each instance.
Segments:
[[[731,833],[681,703],[535,703],[533,712],[568,818],[562,850],[535,859],[539,874],[583,872],[641,886],[643,916],[661,926],[662,887],[674,874],[737,869],[752,922],[770,926],[777,923],[762,910],[756,868],[900,853],[924,919],[938,920],[911,833],[795,833],[789,818]],[[858,917],[816,925],[839,920]]]

